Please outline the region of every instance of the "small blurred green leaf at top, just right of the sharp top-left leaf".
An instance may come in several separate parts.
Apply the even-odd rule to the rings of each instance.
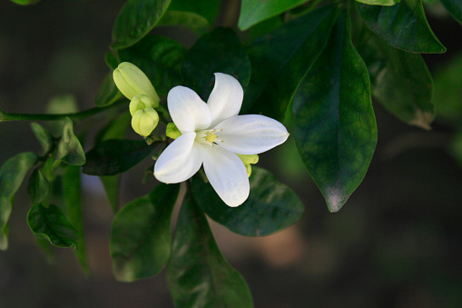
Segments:
[[[202,15],[186,11],[167,11],[157,24],[159,25],[182,25],[199,35],[202,35],[210,26],[209,21]]]

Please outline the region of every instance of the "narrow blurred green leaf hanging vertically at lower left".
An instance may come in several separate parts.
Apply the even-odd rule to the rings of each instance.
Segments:
[[[89,273],[85,252],[84,214],[82,210],[82,184],[80,167],[70,165],[63,174],[63,196],[67,219],[75,228],[79,245],[75,248],[75,256],[84,273]]]

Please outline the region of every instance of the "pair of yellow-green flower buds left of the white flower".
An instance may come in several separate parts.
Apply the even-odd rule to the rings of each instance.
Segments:
[[[130,102],[133,131],[148,136],[159,124],[159,114],[154,108],[159,107],[160,98],[151,81],[136,65],[121,63],[113,71],[113,80]]]

